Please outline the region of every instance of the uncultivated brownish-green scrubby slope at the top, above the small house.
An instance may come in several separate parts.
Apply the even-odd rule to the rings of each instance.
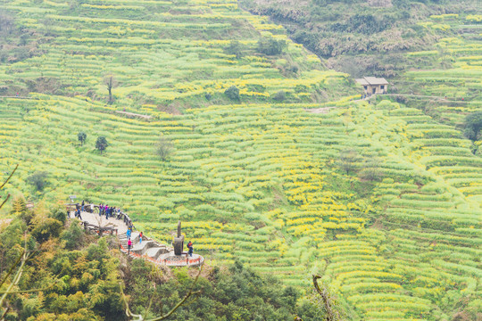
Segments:
[[[354,78],[392,78],[410,65],[406,53],[436,43],[432,15],[480,14],[478,1],[449,0],[240,0],[246,10],[270,16],[289,37]],[[416,67],[416,65],[414,66]]]

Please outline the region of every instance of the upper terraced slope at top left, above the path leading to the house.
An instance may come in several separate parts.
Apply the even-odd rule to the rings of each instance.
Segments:
[[[104,98],[105,78],[113,76],[118,108],[155,114],[215,103],[229,86],[239,88],[242,100],[266,101],[285,91],[300,102],[328,97],[345,83],[345,75],[320,71],[316,56],[292,42],[285,55],[258,54],[259,39],[287,37],[279,26],[237,10],[236,1],[19,0],[2,7],[46,35],[39,45],[45,54],[1,67],[0,79],[12,93],[32,91],[32,81],[50,81],[47,89],[56,95]],[[235,40],[239,59],[226,53]]]

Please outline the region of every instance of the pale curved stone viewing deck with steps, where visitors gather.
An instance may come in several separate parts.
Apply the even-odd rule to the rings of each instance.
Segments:
[[[74,210],[76,204],[67,204],[67,210],[71,218],[75,217]],[[152,238],[143,235],[140,242],[140,233],[134,231],[130,235],[132,247],[128,251],[127,230],[131,220],[129,216],[123,212],[116,213],[113,217],[105,218],[105,215],[99,215],[95,209],[90,208],[90,204],[85,206],[88,211],[80,212],[80,220],[84,229],[90,233],[97,235],[117,235],[119,240],[120,251],[129,255],[133,259],[147,259],[154,264],[168,267],[199,267],[203,265],[204,258],[201,255],[194,254],[188,256],[184,248],[184,235],[180,233],[180,222],[178,223],[178,237],[175,237],[172,246],[158,243]],[[92,212],[91,212],[92,210]]]

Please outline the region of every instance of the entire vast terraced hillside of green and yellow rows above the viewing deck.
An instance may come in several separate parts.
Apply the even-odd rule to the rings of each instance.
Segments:
[[[0,170],[21,163],[9,192],[120,206],[164,242],[180,218],[212,264],[240,259],[301,288],[322,274],[351,320],[481,308],[482,161],[453,124],[349,102],[350,79],[289,41],[259,53],[258,39],[286,39],[283,29],[233,2],[2,7],[54,35],[44,55],[0,65],[8,90],[31,98],[0,98]],[[233,38],[238,58],[226,53]],[[42,78],[56,84],[49,94],[31,90]],[[323,106],[336,108],[309,112]],[[102,155],[97,136],[110,144]],[[166,161],[160,136],[176,147]],[[37,170],[49,172],[43,193],[25,182]]]

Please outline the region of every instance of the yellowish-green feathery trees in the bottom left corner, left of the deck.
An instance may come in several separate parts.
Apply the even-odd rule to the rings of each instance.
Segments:
[[[79,234],[73,221],[69,230],[62,230],[60,221],[44,218],[27,234],[28,248],[37,247],[35,259],[28,262],[20,291],[44,289],[42,292],[9,294],[10,317],[24,320],[125,320],[120,297],[117,259],[112,257],[105,239],[88,245],[87,238]],[[0,276],[22,251],[25,226],[20,219],[0,231]],[[65,250],[60,246],[62,235],[67,242]],[[30,235],[33,238],[30,238]],[[49,240],[48,243],[45,243]],[[35,244],[45,243],[38,246]],[[77,243],[74,245],[73,243]],[[84,250],[72,251],[74,248]]]

